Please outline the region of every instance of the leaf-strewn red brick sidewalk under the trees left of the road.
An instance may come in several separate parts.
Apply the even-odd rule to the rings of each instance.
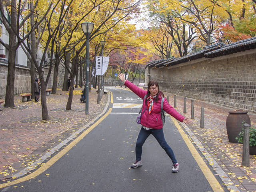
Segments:
[[[70,111],[65,110],[68,91],[58,89],[57,94],[46,96],[48,121],[42,120],[40,102],[21,102],[21,96],[14,97],[14,108],[0,111],[0,180],[12,178],[20,170],[30,167],[48,150],[102,113],[106,95],[97,104],[97,93],[92,88],[89,115],[85,115],[85,103],[79,100],[81,94],[82,88],[76,88]]]

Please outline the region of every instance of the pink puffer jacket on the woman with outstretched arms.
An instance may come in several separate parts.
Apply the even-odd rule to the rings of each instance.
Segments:
[[[132,92],[134,92],[136,95],[138,95],[142,99],[144,99],[144,96],[148,92],[147,90],[142,90],[141,88],[138,88],[136,85],[134,85],[128,80],[126,80],[124,85],[130,88]],[[154,104],[153,104],[154,107],[150,114],[148,114],[148,110],[145,110],[147,106],[145,105],[145,101],[143,101],[142,112],[144,110],[145,112],[142,114],[142,117],[140,119],[140,124],[148,128],[162,129],[163,122],[161,118],[161,96],[159,96],[157,103],[155,102],[155,98],[153,98],[153,101],[154,101]],[[185,117],[179,114],[172,106],[170,106],[166,98],[164,98],[163,109],[166,113],[170,114],[180,122],[183,122]]]

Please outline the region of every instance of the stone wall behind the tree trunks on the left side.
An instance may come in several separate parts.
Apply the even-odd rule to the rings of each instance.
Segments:
[[[30,93],[31,85],[30,85],[30,69],[24,66],[16,66],[15,69],[15,80],[14,80],[14,95],[21,93]],[[53,83],[53,70],[50,76],[50,80],[48,82],[47,88],[52,88]],[[3,98],[6,93],[6,84],[7,84],[7,73],[8,73],[8,62],[0,60],[0,97]],[[63,86],[65,68],[60,65],[58,71],[58,84],[57,87]],[[44,76],[46,78],[48,74],[48,68],[44,68]],[[38,74],[37,74],[38,77]]]

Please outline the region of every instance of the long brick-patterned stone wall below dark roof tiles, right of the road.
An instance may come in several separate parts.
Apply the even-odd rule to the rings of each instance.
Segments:
[[[146,69],[147,72],[147,69]],[[150,79],[172,94],[256,112],[256,50],[150,68]]]

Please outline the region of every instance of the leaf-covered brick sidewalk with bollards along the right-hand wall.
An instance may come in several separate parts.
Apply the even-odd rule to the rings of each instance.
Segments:
[[[174,95],[165,93],[166,97],[167,95],[169,103],[174,106]],[[186,98],[186,114],[183,113],[183,104],[183,97],[177,96],[176,110],[190,117],[191,100]],[[204,128],[200,128],[201,107],[204,107]],[[243,145],[228,141],[226,118],[228,111],[232,110],[234,109],[194,100],[195,119],[189,128],[241,192],[256,191],[256,155],[250,155],[250,167],[241,166]],[[255,126],[256,115],[249,116],[252,126]],[[212,165],[211,162],[208,164]],[[228,187],[229,184],[226,185]]]

